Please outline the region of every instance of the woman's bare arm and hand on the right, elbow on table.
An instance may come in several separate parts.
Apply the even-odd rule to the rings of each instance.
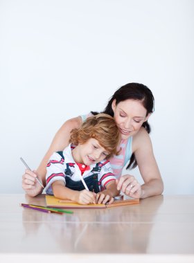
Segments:
[[[161,194],[164,184],[155,160],[150,136],[143,127],[133,137],[132,152],[136,157],[144,183],[140,185],[134,176],[126,174],[119,179],[117,189],[133,198],[143,199]]]

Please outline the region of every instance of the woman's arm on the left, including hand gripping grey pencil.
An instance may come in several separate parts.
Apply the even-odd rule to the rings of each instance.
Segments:
[[[46,165],[49,158],[53,152],[62,151],[65,147],[67,147],[67,145],[69,145],[71,130],[78,129],[81,124],[81,117],[67,120],[62,127],[60,127],[57,134],[55,134],[51,146],[46,152],[37,170],[35,172],[30,172],[29,170],[25,171],[25,174],[22,176],[22,188],[26,191],[26,194],[29,194],[31,197],[35,197],[37,194],[42,193],[42,188],[39,188],[39,185],[35,181],[35,177],[38,176],[43,185],[45,185]]]

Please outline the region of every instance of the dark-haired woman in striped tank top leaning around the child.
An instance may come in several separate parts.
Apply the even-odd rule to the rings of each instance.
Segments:
[[[121,131],[121,153],[110,159],[117,177],[117,189],[133,198],[143,199],[155,196],[164,190],[149,136],[148,118],[153,109],[154,97],[150,89],[143,84],[129,83],[114,93],[103,111],[103,113],[114,117]],[[97,113],[91,111],[91,114]],[[86,118],[87,116],[78,116],[67,120],[53,138],[53,142],[37,171],[26,170],[23,175],[22,188],[31,197],[42,192],[35,177],[38,176],[39,179],[42,179],[42,183],[45,185],[46,164],[51,154],[67,147],[71,130],[78,129]],[[138,165],[144,181],[143,185],[140,185],[131,174],[121,176],[122,169],[128,162],[127,168],[134,168]]]

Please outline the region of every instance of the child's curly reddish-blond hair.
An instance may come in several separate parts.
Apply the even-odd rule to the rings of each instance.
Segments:
[[[87,118],[79,129],[71,131],[69,142],[73,145],[84,144],[89,138],[98,140],[98,143],[109,153],[107,158],[120,152],[121,133],[114,118],[108,114],[97,114]]]

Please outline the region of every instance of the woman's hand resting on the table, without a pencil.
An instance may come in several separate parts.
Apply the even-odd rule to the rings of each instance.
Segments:
[[[116,180],[117,190],[121,190],[123,194],[126,194],[132,198],[141,198],[141,185],[136,181],[134,176],[125,174],[121,178]]]

